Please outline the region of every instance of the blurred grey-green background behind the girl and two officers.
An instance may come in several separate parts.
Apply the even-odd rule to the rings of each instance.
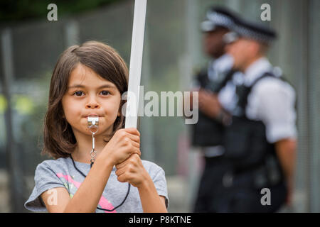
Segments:
[[[58,21],[48,21],[48,4]],[[261,21],[262,4],[271,21]],[[223,5],[245,18],[270,23],[279,39],[270,62],[297,92],[299,148],[294,201],[283,212],[320,212],[320,1],[148,0],[142,85],[144,92],[186,91],[206,66],[200,22],[209,6]],[[86,40],[114,47],[129,66],[133,0],[0,1],[0,212],[27,212],[41,156],[43,116],[55,62],[65,48]],[[142,158],[164,168],[169,211],[190,212],[203,162],[190,146],[181,117],[141,117]]]

